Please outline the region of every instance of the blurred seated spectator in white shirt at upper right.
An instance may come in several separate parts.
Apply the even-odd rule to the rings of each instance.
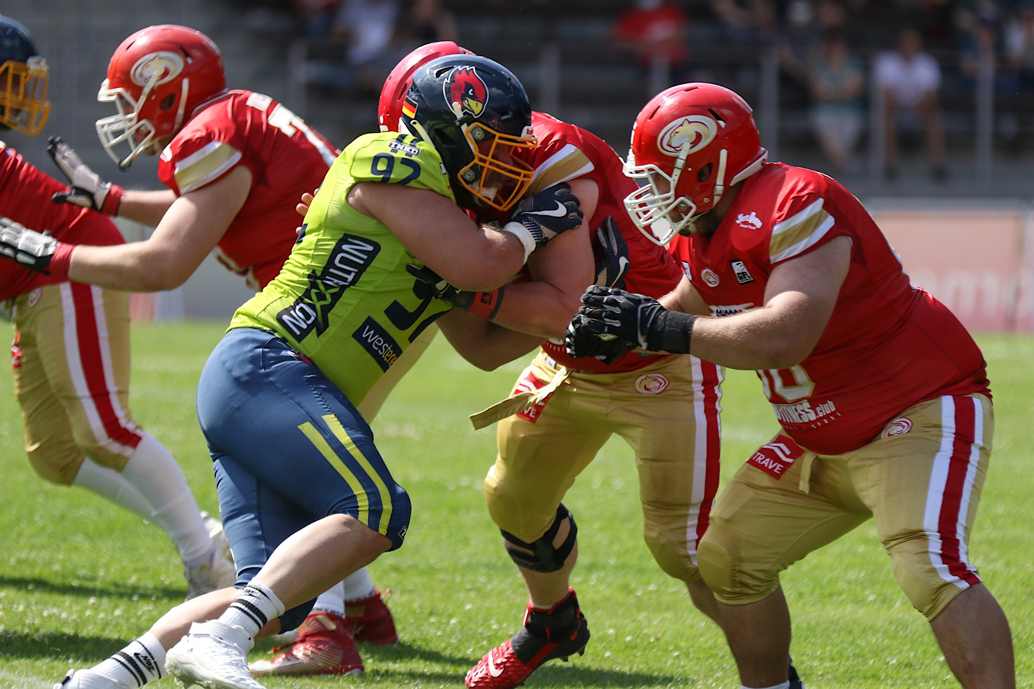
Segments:
[[[944,164],[944,127],[938,91],[941,68],[921,52],[922,38],[914,29],[902,31],[898,51],[884,53],[876,63],[876,83],[883,92],[886,176],[898,175],[898,130],[902,125],[921,125],[925,130],[926,155],[934,178],[947,177]]]

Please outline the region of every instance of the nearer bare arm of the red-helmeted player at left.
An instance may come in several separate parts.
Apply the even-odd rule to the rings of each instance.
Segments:
[[[75,247],[68,277],[127,291],[179,287],[215,248],[250,188],[251,171],[241,165],[222,180],[177,198],[144,242]]]

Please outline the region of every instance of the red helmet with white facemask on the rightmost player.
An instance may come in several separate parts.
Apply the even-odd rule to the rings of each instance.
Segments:
[[[747,101],[716,84],[673,86],[639,113],[625,164],[639,189],[625,207],[651,242],[667,245],[714,208],[726,188],[761,169],[768,152],[751,113]]]

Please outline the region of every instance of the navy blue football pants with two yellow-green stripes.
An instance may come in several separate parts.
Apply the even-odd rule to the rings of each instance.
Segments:
[[[330,514],[349,514],[395,550],[409,496],[385,466],[373,433],[330,380],[279,337],[230,331],[205,364],[197,418],[215,463],[237,587],[258,573],[287,536]],[[302,623],[314,600],[280,617]]]

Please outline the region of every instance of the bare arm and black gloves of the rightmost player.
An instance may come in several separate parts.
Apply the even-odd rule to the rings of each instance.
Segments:
[[[829,322],[850,262],[851,241],[846,237],[831,240],[777,265],[769,276],[764,306],[721,318],[673,317],[673,311],[641,294],[590,288],[574,330],[582,336],[591,332],[605,338],[614,336],[648,351],[692,353],[733,369],[786,369],[799,364],[815,348]],[[686,285],[674,292],[680,297],[681,313],[699,308],[700,297],[694,297],[694,292]],[[585,346],[586,340],[574,335],[569,331],[569,350]],[[584,353],[572,351],[573,355]]]

